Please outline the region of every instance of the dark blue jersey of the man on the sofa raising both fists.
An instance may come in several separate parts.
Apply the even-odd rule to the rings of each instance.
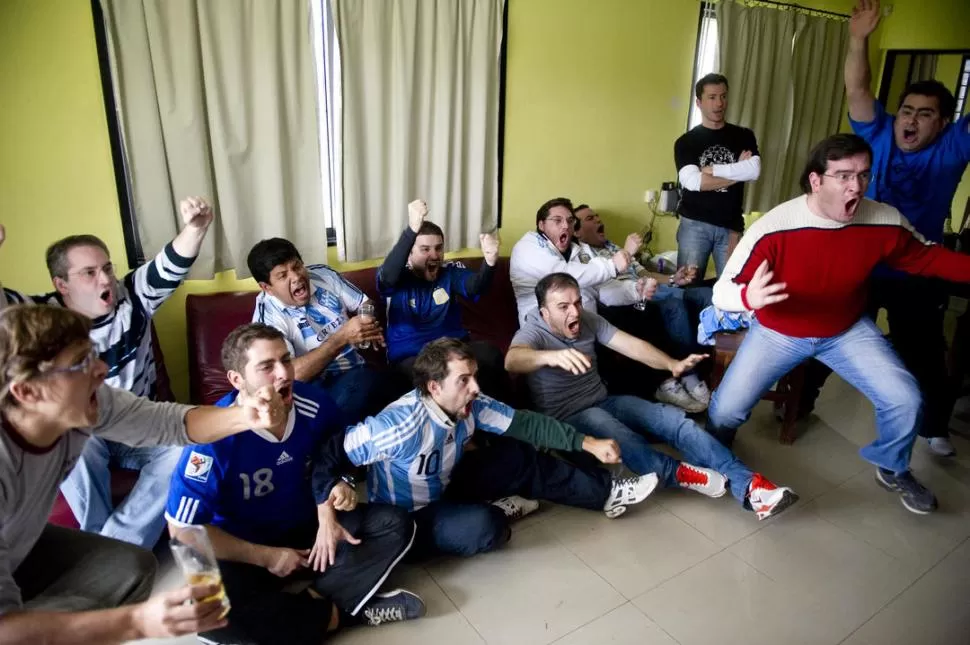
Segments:
[[[401,275],[396,287],[381,288],[387,303],[387,359],[392,363],[417,356],[425,344],[437,338],[465,338],[461,326],[461,307],[456,295],[477,298],[468,293],[475,273],[460,262],[441,267],[434,282],[410,271]]]

